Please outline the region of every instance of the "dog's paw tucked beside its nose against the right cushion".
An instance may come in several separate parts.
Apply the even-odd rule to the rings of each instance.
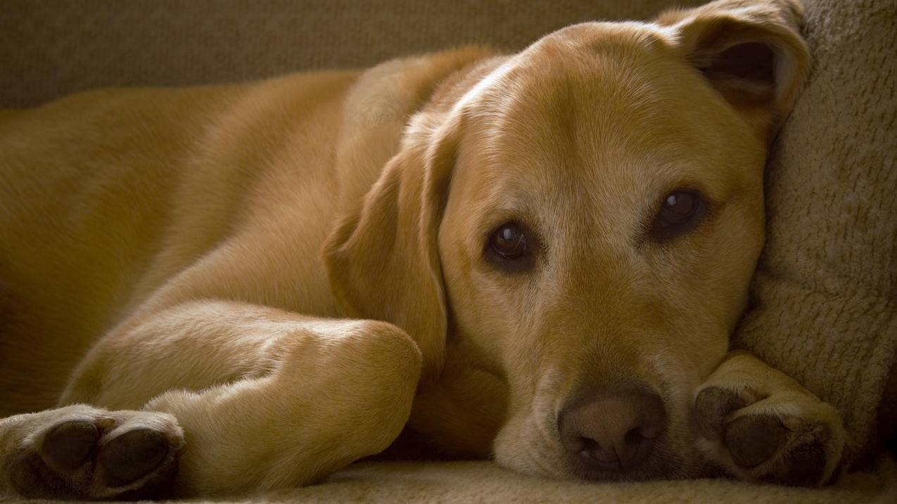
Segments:
[[[836,476],[840,413],[749,352],[731,352],[695,394],[698,448],[747,481],[814,486]]]

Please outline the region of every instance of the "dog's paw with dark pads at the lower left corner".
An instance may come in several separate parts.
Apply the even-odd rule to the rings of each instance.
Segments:
[[[183,432],[167,413],[69,406],[34,413],[9,481],[24,497],[146,499],[174,480]]]

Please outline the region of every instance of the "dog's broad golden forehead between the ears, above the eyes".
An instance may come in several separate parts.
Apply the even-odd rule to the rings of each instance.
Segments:
[[[737,149],[744,125],[649,25],[556,31],[483,83],[466,107],[466,157],[495,199],[638,206],[665,186],[737,178],[707,165],[726,158],[718,145]]]

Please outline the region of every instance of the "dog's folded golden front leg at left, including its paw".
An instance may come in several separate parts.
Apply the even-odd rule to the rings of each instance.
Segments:
[[[157,451],[177,462],[186,440],[176,495],[316,482],[396,439],[420,370],[416,344],[383,322],[179,305],[113,331],[76,371],[61,404],[110,411],[67,406],[4,420],[13,427],[0,430],[0,476],[35,497],[144,497],[160,487]],[[151,421],[158,426],[145,427]],[[134,446],[118,442],[109,459],[108,447],[135,429],[167,444],[132,434]],[[113,466],[127,477],[110,479]]]

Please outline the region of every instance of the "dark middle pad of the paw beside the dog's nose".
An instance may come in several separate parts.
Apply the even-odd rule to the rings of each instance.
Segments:
[[[737,465],[753,469],[776,454],[787,434],[775,417],[745,415],[726,426],[726,446]]]

